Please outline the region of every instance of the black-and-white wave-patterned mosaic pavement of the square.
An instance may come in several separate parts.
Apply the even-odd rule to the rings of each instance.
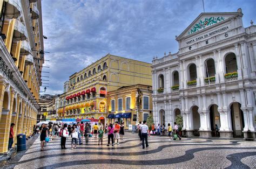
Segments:
[[[15,168],[256,168],[256,142],[244,140],[152,136],[149,147],[142,149],[137,134],[125,133],[119,145],[106,146],[90,138],[89,145],[60,149],[60,138],[40,151],[39,137]]]

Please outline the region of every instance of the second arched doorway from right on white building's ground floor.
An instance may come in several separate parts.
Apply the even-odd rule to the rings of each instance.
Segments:
[[[212,137],[219,137],[219,131],[216,130],[220,129],[220,115],[218,111],[218,105],[213,104],[210,107],[210,122],[211,122],[211,131],[212,131]],[[217,127],[216,127],[217,125]]]

